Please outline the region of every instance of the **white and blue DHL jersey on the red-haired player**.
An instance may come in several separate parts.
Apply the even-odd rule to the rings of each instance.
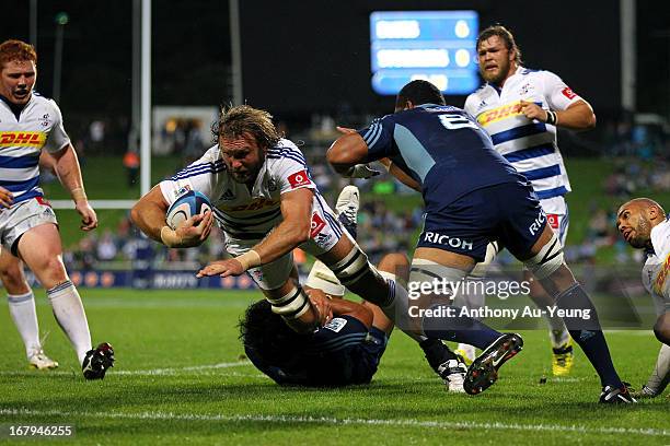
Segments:
[[[60,108],[37,93],[14,114],[0,98],[0,186],[14,195],[14,203],[43,196],[39,188],[39,153],[58,152],[70,139],[62,127]]]

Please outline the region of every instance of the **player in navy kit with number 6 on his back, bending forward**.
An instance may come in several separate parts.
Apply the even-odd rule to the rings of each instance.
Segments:
[[[493,148],[490,137],[464,110],[444,105],[439,90],[413,81],[397,95],[395,113],[333,143],[328,162],[339,172],[359,163],[390,159],[420,188],[426,207],[409,277],[421,290],[417,324],[429,336],[484,350],[470,366],[465,390],[477,394],[497,378],[500,365],[522,345],[518,334],[501,333],[469,317],[453,317],[443,304],[431,306],[436,280],[460,282],[484,260],[486,246],[499,239],[542,282],[565,322],[598,372],[601,402],[634,402],[621,382],[590,298],[564,262],[558,238],[529,181]],[[415,286],[418,285],[418,286]],[[424,287],[424,285],[427,285]],[[425,313],[435,309],[437,315]],[[458,314],[459,312],[457,312]],[[416,314],[416,313],[415,313]],[[418,319],[418,320],[417,320]]]

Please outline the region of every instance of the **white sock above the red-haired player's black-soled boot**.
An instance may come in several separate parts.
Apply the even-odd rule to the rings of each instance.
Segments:
[[[69,280],[47,291],[54,316],[72,343],[81,364],[91,350],[91,333],[81,297]]]

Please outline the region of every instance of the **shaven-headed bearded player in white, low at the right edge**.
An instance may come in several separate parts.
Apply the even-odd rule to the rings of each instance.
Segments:
[[[636,396],[654,398],[670,382],[670,220],[656,201],[636,198],[619,208],[616,228],[631,246],[647,254],[642,277],[656,305],[654,333],[662,345],[654,372]]]

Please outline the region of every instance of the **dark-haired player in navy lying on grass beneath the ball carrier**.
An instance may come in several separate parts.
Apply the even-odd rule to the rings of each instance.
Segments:
[[[408,265],[404,255],[392,254],[382,259],[379,270],[396,280],[396,271],[408,271]],[[312,289],[311,293],[324,292],[332,297],[327,302],[333,319],[313,332],[299,334],[272,312],[266,301],[256,302],[240,324],[240,338],[249,359],[277,384],[370,383],[393,331],[391,319],[374,304],[342,298],[345,287],[322,279],[314,269],[305,286]],[[458,362],[455,355],[453,359]]]

